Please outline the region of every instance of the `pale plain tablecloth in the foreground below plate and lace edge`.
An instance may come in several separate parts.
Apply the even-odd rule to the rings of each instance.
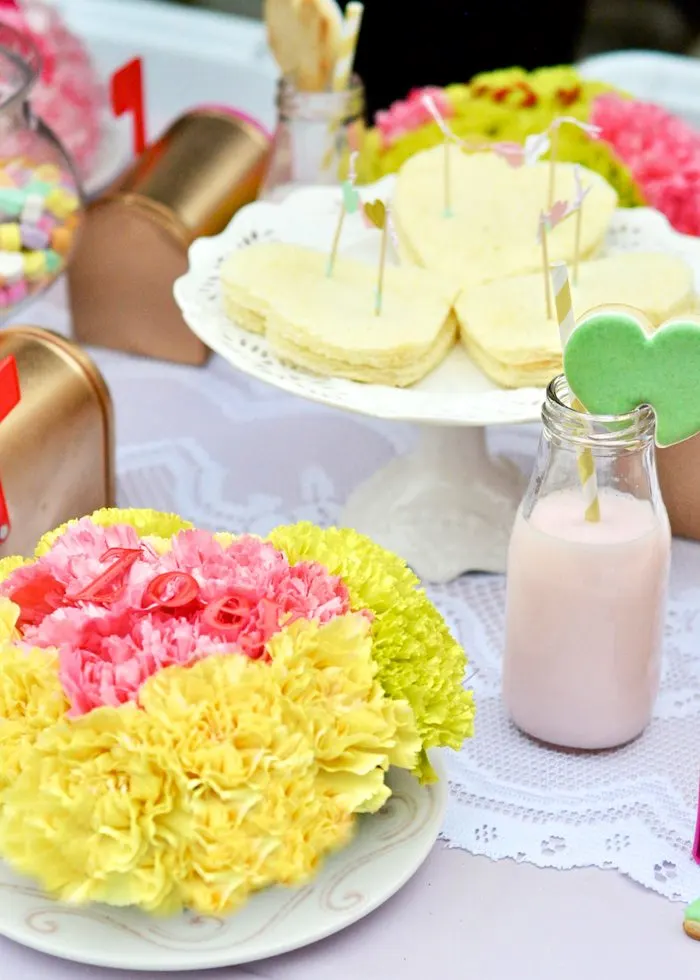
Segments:
[[[246,967],[175,980],[697,980],[683,907],[613,871],[494,863],[437,844],[391,901],[345,932]],[[165,974],[150,974],[165,976]],[[0,939],[2,980],[140,980]]]

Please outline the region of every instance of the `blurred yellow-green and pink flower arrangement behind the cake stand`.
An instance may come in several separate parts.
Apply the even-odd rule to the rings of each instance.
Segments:
[[[562,130],[557,159],[602,174],[617,191],[620,206],[647,203],[678,231],[700,235],[700,133],[660,106],[585,79],[570,66],[530,73],[511,68],[477,75],[466,85],[411,92],[377,113],[361,146],[360,180],[394,173],[419,150],[442,143],[426,95],[462,139],[524,143],[561,115],[599,126],[598,140],[573,127]]]

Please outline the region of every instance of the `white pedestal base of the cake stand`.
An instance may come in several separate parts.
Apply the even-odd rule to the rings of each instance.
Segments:
[[[425,426],[398,456],[350,495],[343,524],[406,559],[420,578],[504,572],[525,478],[492,458],[484,428]]]

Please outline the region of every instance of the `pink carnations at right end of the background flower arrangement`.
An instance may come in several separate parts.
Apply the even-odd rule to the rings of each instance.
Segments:
[[[700,235],[700,133],[660,106],[614,94],[595,100],[590,121],[647,202],[678,231]]]

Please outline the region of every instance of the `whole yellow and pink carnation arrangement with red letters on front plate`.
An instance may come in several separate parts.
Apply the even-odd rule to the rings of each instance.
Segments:
[[[60,900],[231,912],[472,733],[465,656],[351,530],[102,510],[0,562],[0,857]]]

